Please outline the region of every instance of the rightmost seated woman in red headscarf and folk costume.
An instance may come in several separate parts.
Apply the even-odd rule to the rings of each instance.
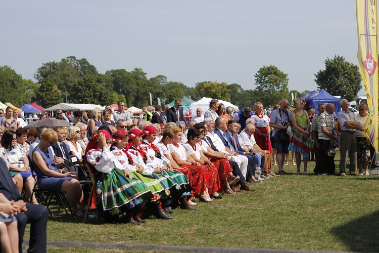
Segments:
[[[171,191],[171,196],[175,200],[173,206],[175,207],[179,201],[179,205],[182,209],[196,210],[197,208],[192,207],[187,202],[187,197],[191,196],[192,190],[188,180],[182,173],[173,170],[171,161],[162,155],[160,149],[153,144],[158,135],[157,128],[154,125],[148,125],[142,132],[144,133],[144,140],[139,148],[141,149],[141,152],[146,153],[145,163],[160,163],[162,167],[165,167],[165,169],[162,170],[161,175],[169,177],[176,183],[177,187]]]

